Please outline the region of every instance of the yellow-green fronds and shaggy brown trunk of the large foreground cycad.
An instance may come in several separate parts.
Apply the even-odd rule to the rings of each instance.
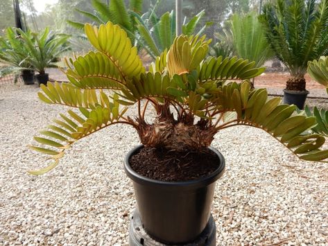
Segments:
[[[266,89],[250,89],[248,79],[264,71],[254,62],[205,59],[210,40],[182,35],[146,71],[119,26],[86,24],[85,33],[96,51],[67,62],[69,83],[42,85],[39,96],[45,103],[78,111],[60,114],[40,132],[42,136],[35,137],[40,145],[31,148],[53,162],[31,174],[46,173],[73,143],[117,123],[135,128],[146,147],[176,152],[202,151],[219,130],[250,125],[265,130],[301,159],[328,157],[327,150],[320,150],[325,138],[307,133],[316,118],[297,114],[295,106],[281,105],[279,98],[268,99]],[[134,104],[137,117],[131,118],[128,109]],[[150,106],[156,116],[148,123],[145,113]]]

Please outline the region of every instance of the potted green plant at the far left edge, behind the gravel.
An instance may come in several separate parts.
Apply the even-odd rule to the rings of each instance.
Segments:
[[[33,40],[30,31],[23,32],[18,28],[6,28],[6,36],[0,37],[0,62],[5,64],[0,69],[0,75],[6,76],[11,73],[18,75],[20,73],[24,84],[33,85],[34,70],[31,63],[27,61],[28,51],[21,39],[21,33]]]

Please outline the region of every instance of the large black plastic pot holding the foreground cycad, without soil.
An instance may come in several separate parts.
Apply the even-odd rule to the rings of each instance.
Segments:
[[[223,175],[225,159],[220,152],[218,168],[207,177],[187,182],[162,182],[136,173],[129,160],[144,146],[126,155],[124,169],[135,188],[140,218],[149,236],[168,245],[189,243],[205,229],[211,212],[216,180]]]

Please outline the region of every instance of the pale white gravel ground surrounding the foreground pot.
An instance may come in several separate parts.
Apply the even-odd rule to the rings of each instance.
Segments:
[[[135,207],[123,171],[135,131],[115,125],[83,139],[60,166],[26,148],[64,108],[35,86],[0,93],[0,245],[127,245]],[[299,161],[268,134],[230,128],[213,146],[226,159],[212,208],[218,245],[328,245],[328,166]]]

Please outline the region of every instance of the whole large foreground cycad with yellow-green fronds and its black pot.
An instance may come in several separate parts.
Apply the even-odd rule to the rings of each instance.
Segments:
[[[207,227],[214,182],[225,168],[223,156],[210,147],[220,130],[250,125],[273,135],[300,159],[328,157],[327,150],[320,150],[325,138],[306,132],[316,118],[298,115],[294,105],[281,105],[280,98],[268,99],[266,89],[250,89],[248,79],[264,71],[254,62],[204,60],[210,40],[182,35],[146,71],[119,26],[86,24],[85,33],[96,51],[67,60],[69,83],[48,82],[39,92],[45,103],[78,111],[61,114],[35,137],[38,144],[31,148],[49,155],[51,163],[30,173],[55,168],[65,150],[89,134],[118,123],[130,125],[142,145],[128,153],[124,167],[135,186],[144,226],[138,228],[150,235],[147,240],[190,243]],[[136,116],[128,116],[128,109]],[[155,114],[152,122],[145,119],[149,112]],[[145,240],[138,241],[147,245]]]

